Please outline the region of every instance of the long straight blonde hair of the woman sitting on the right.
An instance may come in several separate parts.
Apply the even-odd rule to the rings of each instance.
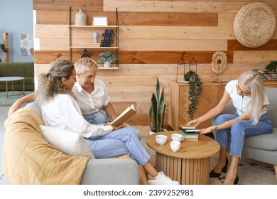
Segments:
[[[258,123],[261,117],[261,109],[264,107],[264,96],[266,91],[264,90],[264,83],[257,72],[246,71],[239,76],[238,82],[242,85],[246,85],[251,92],[249,104],[247,105],[247,114],[252,124]]]

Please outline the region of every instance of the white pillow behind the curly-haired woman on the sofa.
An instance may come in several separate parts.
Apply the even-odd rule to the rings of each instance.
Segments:
[[[64,154],[68,156],[85,156],[95,159],[85,139],[83,139],[80,134],[43,125],[40,125],[40,130],[49,144],[52,144]]]

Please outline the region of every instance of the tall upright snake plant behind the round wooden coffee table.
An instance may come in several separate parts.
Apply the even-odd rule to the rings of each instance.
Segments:
[[[151,107],[149,109],[148,117],[150,120],[150,131],[153,133],[164,131],[163,121],[165,118],[165,98],[163,95],[163,90],[161,91],[160,82],[157,78],[156,93],[153,92],[151,97]],[[152,118],[153,116],[153,118]],[[151,134],[151,133],[150,133]]]

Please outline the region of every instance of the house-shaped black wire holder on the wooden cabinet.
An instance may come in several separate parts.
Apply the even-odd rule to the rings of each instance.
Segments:
[[[194,57],[183,55],[177,64],[176,81],[182,83],[188,83],[188,77],[186,75],[190,70],[195,69],[197,73],[197,62]]]

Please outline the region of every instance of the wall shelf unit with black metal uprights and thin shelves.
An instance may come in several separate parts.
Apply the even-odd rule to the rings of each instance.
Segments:
[[[90,49],[90,50],[94,50],[95,53],[99,53],[102,52],[104,53],[105,51],[111,51],[111,53],[115,54],[114,56],[116,56],[116,63],[114,67],[110,67],[110,68],[103,68],[103,67],[99,67],[99,69],[119,69],[119,19],[118,19],[118,14],[117,14],[117,8],[115,11],[115,15],[116,15],[116,25],[115,26],[75,26],[75,25],[71,25],[71,9],[70,9],[70,19],[69,19],[69,49],[70,49],[70,60],[72,60],[72,50],[82,50],[80,51],[80,57],[82,55],[83,50],[85,49]],[[99,46],[95,45],[93,43],[93,32],[97,31],[99,34]],[[107,31],[107,33],[106,33]],[[110,31],[113,31],[114,36],[110,36]],[[89,45],[89,43],[87,43],[87,39],[86,38],[75,38],[74,35],[80,35],[80,32],[83,32],[84,35],[91,35],[91,39],[90,42],[91,45]],[[107,34],[107,35],[104,35]],[[101,41],[105,38],[105,37],[111,37],[111,39],[113,40],[112,45],[111,46],[103,46],[101,44]],[[97,61],[97,59],[94,58],[94,60]],[[101,65],[101,64],[100,64]]]

